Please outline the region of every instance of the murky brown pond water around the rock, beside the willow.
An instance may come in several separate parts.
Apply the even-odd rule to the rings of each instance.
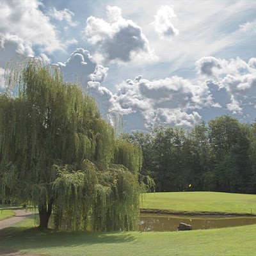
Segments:
[[[180,216],[141,214],[140,231],[176,231],[180,222],[193,229],[225,228],[256,224],[256,216]]]

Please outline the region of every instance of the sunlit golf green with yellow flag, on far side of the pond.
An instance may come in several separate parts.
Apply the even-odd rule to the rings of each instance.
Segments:
[[[145,194],[141,208],[172,212],[225,212],[256,214],[256,195],[219,192],[168,192]]]

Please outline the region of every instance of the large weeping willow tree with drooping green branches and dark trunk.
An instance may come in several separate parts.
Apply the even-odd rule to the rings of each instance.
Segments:
[[[116,139],[92,97],[33,58],[6,68],[0,95],[2,200],[38,207],[39,227],[132,230],[141,151]],[[10,96],[10,92],[12,95]]]

